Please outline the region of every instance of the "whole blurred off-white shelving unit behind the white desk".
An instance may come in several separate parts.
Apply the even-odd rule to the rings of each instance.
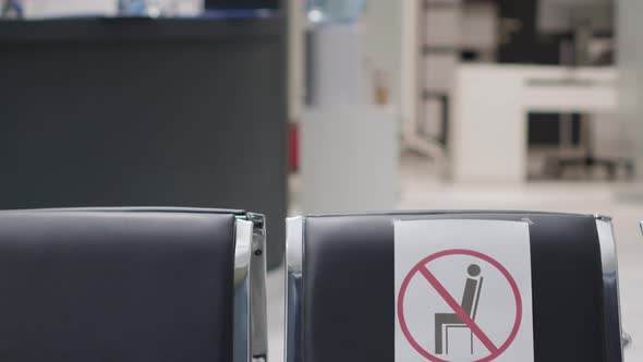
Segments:
[[[404,147],[441,162],[447,153],[453,77],[463,49],[483,62],[497,47],[494,1],[409,0],[402,10]]]

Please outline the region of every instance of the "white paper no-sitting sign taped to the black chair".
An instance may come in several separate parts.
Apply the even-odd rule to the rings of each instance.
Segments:
[[[529,224],[395,222],[396,361],[534,361]]]

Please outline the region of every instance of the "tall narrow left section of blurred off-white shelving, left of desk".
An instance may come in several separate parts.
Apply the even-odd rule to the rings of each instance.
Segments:
[[[404,146],[435,160],[445,153],[461,14],[461,0],[408,1],[403,9]]]

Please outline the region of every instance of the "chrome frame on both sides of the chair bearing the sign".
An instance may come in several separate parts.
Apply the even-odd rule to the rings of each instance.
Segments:
[[[451,212],[459,213],[459,212]],[[451,214],[449,212],[399,212],[391,215]],[[481,212],[466,212],[482,214]],[[376,214],[375,214],[376,215]],[[383,215],[381,213],[379,215]],[[350,216],[350,215],[347,215]],[[603,305],[605,324],[605,348],[607,361],[623,361],[623,348],[631,338],[621,329],[620,299],[618,286],[618,261],[614,228],[609,216],[594,215],[600,249],[603,268]],[[643,231],[643,221],[641,221]],[[303,256],[305,217],[287,220],[286,239],[286,362],[303,360]]]

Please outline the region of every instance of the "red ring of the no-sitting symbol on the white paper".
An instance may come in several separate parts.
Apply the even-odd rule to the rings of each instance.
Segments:
[[[420,346],[420,343],[415,340],[413,335],[411,335],[411,331],[409,330],[409,327],[407,326],[407,319],[404,318],[404,297],[407,294],[407,289],[409,288],[409,283],[411,282],[411,279],[417,273],[420,273],[420,269],[425,267],[426,264],[428,264],[437,258],[440,258],[444,256],[449,256],[449,255],[469,255],[469,256],[477,257],[480,260],[483,260],[483,261],[492,264],[496,269],[498,269],[498,272],[500,272],[500,274],[502,274],[502,276],[509,282],[509,286],[511,287],[511,291],[513,292],[513,295],[515,299],[515,321],[513,323],[513,328],[511,329],[509,337],[496,351],[492,352],[492,354],[489,354],[483,359],[473,361],[473,362],[493,361],[494,359],[496,359],[497,357],[502,354],[509,348],[509,346],[511,346],[511,343],[515,339],[515,336],[518,335],[518,330],[520,329],[520,324],[522,321],[522,297],[520,295],[520,290],[518,289],[518,285],[515,283],[515,280],[509,274],[507,268],[505,268],[502,266],[502,264],[500,264],[495,258],[493,258],[488,255],[485,255],[483,253],[480,253],[480,252],[475,252],[475,251],[466,250],[466,249],[445,250],[439,253],[432,254],[432,255],[423,258],[422,261],[420,261],[420,263],[415,264],[415,266],[411,269],[411,272],[409,272],[409,274],[407,275],[404,280],[402,281],[402,286],[400,287],[400,292],[398,294],[398,322],[400,323],[400,327],[402,329],[402,333],[404,334],[404,337],[407,337],[407,340],[409,341],[409,343],[411,343],[413,349],[415,349],[420,354],[422,354],[428,361],[449,362],[447,360],[442,360],[440,358],[437,358],[437,357],[430,354],[430,352],[428,352],[426,349],[424,349],[422,346]]]

